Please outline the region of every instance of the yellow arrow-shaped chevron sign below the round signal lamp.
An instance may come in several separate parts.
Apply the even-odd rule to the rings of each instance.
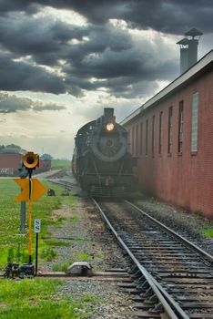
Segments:
[[[14,179],[22,188],[22,192],[15,198],[15,201],[38,201],[42,195],[46,193],[45,186],[36,179]],[[31,196],[29,193],[29,185],[31,183]]]

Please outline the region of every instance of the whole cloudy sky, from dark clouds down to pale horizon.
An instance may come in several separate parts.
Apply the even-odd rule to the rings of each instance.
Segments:
[[[0,0],[0,144],[70,158],[76,130],[117,120],[179,74],[176,42],[203,32],[212,0]]]

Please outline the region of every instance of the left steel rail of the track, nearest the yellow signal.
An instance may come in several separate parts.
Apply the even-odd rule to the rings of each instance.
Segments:
[[[163,287],[161,287],[161,285],[159,283],[157,283],[156,279],[150,273],[147,272],[147,270],[141,265],[140,262],[137,261],[137,258],[135,257],[135,255],[128,249],[126,243],[123,242],[121,237],[118,235],[118,233],[113,228],[110,221],[108,221],[106,214],[104,213],[104,211],[102,211],[99,204],[96,202],[95,199],[92,199],[92,200],[94,201],[96,207],[98,208],[98,210],[100,211],[104,220],[106,221],[106,224],[111,229],[111,231],[114,233],[115,237],[117,238],[117,241],[121,244],[121,246],[127,252],[127,254],[132,259],[132,261],[137,265],[137,268],[143,274],[143,276],[146,278],[147,283],[152,288],[153,292],[156,293],[159,302],[163,305],[164,310],[170,316],[170,318],[171,319],[189,319],[188,314],[186,314],[183,311],[183,309],[180,308],[180,306],[177,304],[177,302],[165,291],[165,289],[163,289]],[[177,312],[178,316],[174,312],[174,310],[171,308],[170,304],[172,304],[172,306],[175,308],[175,311]]]

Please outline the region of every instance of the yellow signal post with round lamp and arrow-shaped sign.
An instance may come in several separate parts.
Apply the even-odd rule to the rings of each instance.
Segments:
[[[29,264],[32,263],[32,201],[37,201],[46,192],[46,188],[39,180],[31,179],[32,171],[38,166],[39,157],[33,152],[27,152],[23,157],[23,165],[28,170],[29,179],[18,180],[15,182],[23,189],[15,198],[15,201],[29,202]]]

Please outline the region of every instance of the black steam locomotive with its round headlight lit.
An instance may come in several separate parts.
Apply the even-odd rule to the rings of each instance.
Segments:
[[[125,197],[137,184],[137,159],[127,151],[127,130],[119,125],[114,108],[76,133],[72,171],[91,197]]]

